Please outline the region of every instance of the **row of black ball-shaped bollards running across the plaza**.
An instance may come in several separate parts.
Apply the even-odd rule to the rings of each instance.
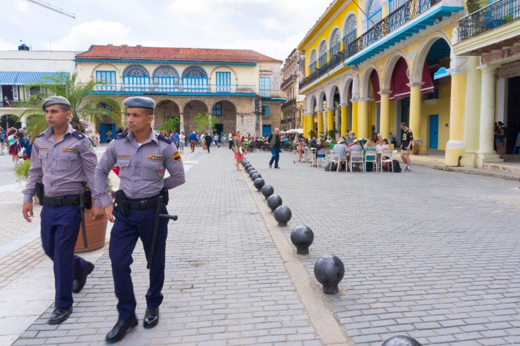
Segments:
[[[282,205],[282,197],[275,195],[275,189],[271,185],[266,185],[262,175],[257,172],[254,167],[246,160],[241,161],[242,166],[248,172],[249,177],[253,180],[253,184],[264,195],[267,200],[267,206],[274,213],[278,225],[287,226],[291,220],[292,212],[289,207]],[[291,231],[291,242],[296,247],[296,253],[299,255],[307,255],[309,246],[313,244],[314,232],[307,225],[299,225]],[[345,265],[337,256],[322,255],[314,264],[314,276],[316,280],[323,285],[323,292],[331,295],[339,291],[339,283],[345,275]],[[417,340],[407,336],[398,335],[387,339],[381,346],[422,346]]]

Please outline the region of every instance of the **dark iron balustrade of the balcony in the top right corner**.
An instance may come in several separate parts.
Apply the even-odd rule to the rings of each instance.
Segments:
[[[520,18],[520,0],[499,0],[459,19],[459,42]]]

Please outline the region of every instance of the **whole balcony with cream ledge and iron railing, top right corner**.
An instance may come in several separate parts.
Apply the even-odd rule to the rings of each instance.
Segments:
[[[499,0],[459,20],[457,55],[483,55],[520,43],[520,0]]]

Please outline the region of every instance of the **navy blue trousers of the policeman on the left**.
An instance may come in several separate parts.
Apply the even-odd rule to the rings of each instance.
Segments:
[[[54,262],[56,308],[72,306],[72,283],[86,270],[87,262],[74,255],[77,234],[80,230],[80,211],[75,205],[53,207],[44,204],[42,219],[42,246]]]

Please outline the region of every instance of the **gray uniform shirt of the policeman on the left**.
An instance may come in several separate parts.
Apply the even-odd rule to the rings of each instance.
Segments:
[[[23,202],[32,202],[36,193],[34,185],[41,181],[47,197],[59,197],[81,192],[84,182],[92,191],[94,206],[101,206],[99,192],[94,187],[94,170],[97,156],[90,140],[84,136],[72,136],[74,129],[69,124],[67,132],[57,142],[53,129],[48,128],[43,136],[33,143],[31,168],[23,193]]]

